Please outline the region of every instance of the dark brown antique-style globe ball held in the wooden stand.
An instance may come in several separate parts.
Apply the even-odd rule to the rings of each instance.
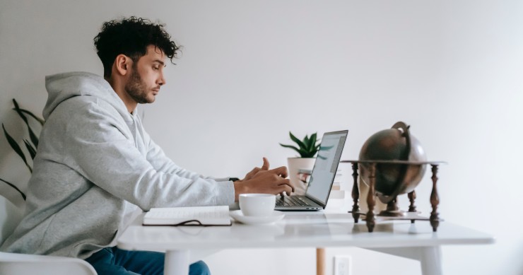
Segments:
[[[359,160],[402,160],[423,162],[425,151],[404,122],[396,122],[391,129],[378,131],[363,144]],[[370,163],[359,163],[360,179],[369,185]],[[424,164],[376,163],[375,191],[384,204],[399,194],[412,192],[425,174]]]

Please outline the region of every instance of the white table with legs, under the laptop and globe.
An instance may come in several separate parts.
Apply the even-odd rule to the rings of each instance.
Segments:
[[[165,274],[189,273],[198,250],[283,247],[362,247],[421,262],[424,275],[442,274],[441,245],[489,244],[494,238],[442,221],[433,233],[427,221],[377,221],[373,233],[349,213],[287,212],[272,225],[216,227],[140,226],[142,216],[117,240],[123,250],[165,251]],[[190,251],[190,252],[189,252]]]

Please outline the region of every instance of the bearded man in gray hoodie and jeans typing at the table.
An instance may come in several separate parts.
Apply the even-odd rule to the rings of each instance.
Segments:
[[[34,172],[23,220],[1,250],[86,259],[98,274],[163,274],[158,252],[114,247],[136,213],[152,207],[230,205],[242,193],[293,192],[286,168],[254,168],[243,180],[205,178],[178,167],[144,131],[138,103],[165,85],[178,47],[163,25],[141,18],[104,23],[95,37],[104,77],[47,76]],[[208,274],[204,262],[191,274]]]

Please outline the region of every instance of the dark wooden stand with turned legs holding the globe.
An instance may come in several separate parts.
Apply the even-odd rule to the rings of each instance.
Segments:
[[[437,231],[437,227],[440,225],[440,218],[439,213],[437,213],[437,206],[440,204],[440,197],[437,194],[437,169],[440,164],[443,164],[445,162],[442,161],[408,161],[408,160],[341,160],[340,163],[351,163],[352,169],[353,169],[353,189],[352,189],[352,198],[354,201],[352,211],[348,211],[348,213],[352,213],[352,216],[354,218],[354,223],[358,223],[360,216],[365,216],[365,222],[367,223],[367,228],[369,232],[372,232],[374,230],[374,227],[376,225],[376,218],[374,213],[374,206],[376,205],[376,191],[375,191],[375,179],[376,179],[376,166],[378,164],[402,164],[402,165],[430,165],[432,170],[432,181],[433,181],[433,189],[432,192],[430,192],[430,205],[432,205],[432,212],[430,213],[430,218],[418,216],[418,212],[416,211],[416,205],[414,202],[416,201],[416,191],[412,191],[408,193],[410,205],[409,205],[409,211],[401,211],[399,210],[399,207],[397,205],[397,196],[394,197],[394,199],[390,200],[387,204],[387,210],[381,211],[377,216],[383,216],[387,217],[389,220],[411,220],[411,223],[414,223],[416,220],[418,221],[430,221],[430,226],[433,228],[433,232]],[[360,211],[360,190],[358,188],[358,164],[359,163],[366,163],[369,164],[369,192],[367,195],[367,204],[368,204],[368,211],[367,213],[363,213]]]

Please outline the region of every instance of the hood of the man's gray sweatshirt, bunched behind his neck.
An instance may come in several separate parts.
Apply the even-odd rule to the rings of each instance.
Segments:
[[[105,100],[124,119],[132,119],[124,102],[102,76],[82,71],[54,74],[45,77],[45,88],[49,96],[42,113],[44,119],[47,119],[60,103],[75,96],[94,96]]]

